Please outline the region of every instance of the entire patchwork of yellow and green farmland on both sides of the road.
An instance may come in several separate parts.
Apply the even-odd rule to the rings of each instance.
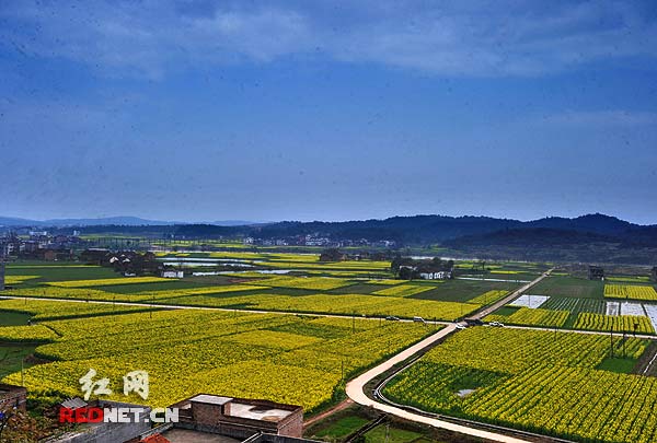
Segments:
[[[184,264],[185,278],[124,277],[80,265],[9,266],[11,288],[3,295],[18,299],[0,300],[7,317],[0,323],[0,342],[45,362],[28,365],[23,374],[32,399],[55,403],[78,395],[77,381],[89,369],[113,385],[125,373],[143,370],[151,377],[151,406],[209,390],[300,404],[313,415],[343,398],[348,380],[441,327],[383,317],[463,318],[543,270],[489,264],[485,276],[404,281],[393,279],[380,261],[326,264],[303,254],[240,250],[160,258]],[[462,265],[466,272],[477,270],[476,264]],[[633,290],[646,285],[626,284]],[[553,331],[459,331],[393,378],[387,395],[429,411],[578,441],[613,442],[620,424],[596,428],[581,421],[564,429],[566,409],[574,406],[562,397],[568,386],[581,385],[589,404],[577,410],[588,416],[621,407],[613,396],[608,404],[600,400],[590,378],[618,384],[627,393],[649,393],[652,384],[642,377],[635,383],[637,376],[630,374],[646,342],[634,337],[623,341],[621,333],[655,334],[657,304],[604,291],[600,281],[549,277],[485,320]],[[105,303],[88,303],[94,301]],[[567,329],[614,334],[610,338]],[[4,369],[5,382],[20,382],[15,368],[14,362]],[[130,400],[114,390],[110,398]],[[533,413],[532,405],[541,401],[531,396],[535,392],[556,405],[552,421],[544,412]],[[647,429],[627,432],[636,441],[649,441]]]

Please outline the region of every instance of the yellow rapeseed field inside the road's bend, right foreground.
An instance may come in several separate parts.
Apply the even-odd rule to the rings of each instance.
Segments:
[[[636,362],[645,350],[638,339],[626,339],[624,350],[622,341],[610,348],[598,336],[472,328],[429,351],[384,394],[428,411],[576,441],[652,442],[657,378],[597,369],[610,352]]]

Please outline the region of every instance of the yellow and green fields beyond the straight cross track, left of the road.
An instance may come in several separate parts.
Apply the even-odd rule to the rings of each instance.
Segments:
[[[191,266],[193,275],[183,280],[125,278],[107,276],[99,271],[104,268],[94,266],[46,268],[36,264],[16,264],[8,268],[15,284],[5,293],[65,300],[452,320],[494,302],[518,285],[486,280],[403,282],[391,280],[392,275],[384,268],[389,264],[370,260],[319,263],[316,255],[302,254],[189,253],[182,256],[163,254],[160,258],[184,260],[181,263]],[[285,276],[255,270],[208,271],[214,267],[223,269],[233,260],[239,260],[242,266],[266,264],[299,268],[302,265],[307,270]],[[201,265],[201,271],[194,275],[194,266]],[[387,278],[372,280],[372,276]]]

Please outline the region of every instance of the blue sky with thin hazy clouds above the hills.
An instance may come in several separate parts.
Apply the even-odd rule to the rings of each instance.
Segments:
[[[0,1],[0,215],[657,223],[657,2]]]

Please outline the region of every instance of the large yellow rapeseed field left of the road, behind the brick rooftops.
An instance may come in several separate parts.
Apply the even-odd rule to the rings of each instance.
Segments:
[[[53,360],[25,371],[25,385],[35,399],[79,395],[77,381],[89,369],[115,384],[139,369],[149,372],[153,406],[210,390],[300,404],[312,411],[332,400],[345,377],[435,330],[417,324],[293,315],[113,313],[111,305],[103,306],[106,315],[89,312],[96,316],[85,317],[80,304],[84,306],[0,301],[3,311],[42,318],[78,310],[76,318],[0,327],[0,340],[42,341],[36,354]],[[5,381],[20,384],[20,375]],[[117,392],[110,398],[124,396]]]

